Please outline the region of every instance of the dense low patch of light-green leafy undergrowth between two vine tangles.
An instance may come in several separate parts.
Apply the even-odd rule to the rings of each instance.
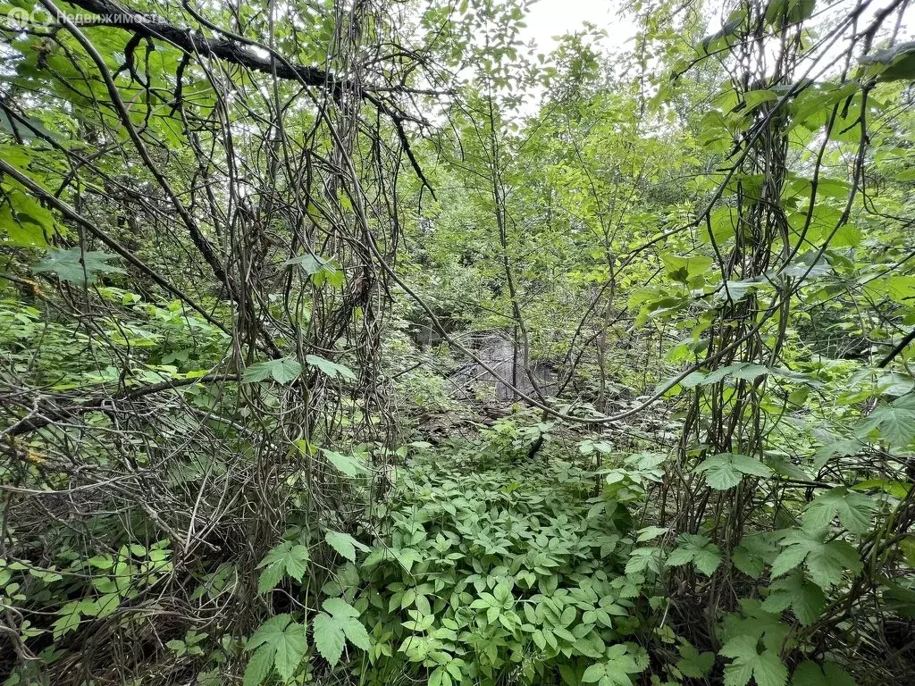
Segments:
[[[645,577],[623,574],[626,506],[592,497],[603,475],[562,461],[476,461],[415,458],[382,513],[390,543],[326,589],[374,627],[364,678],[630,684],[649,656],[636,642]]]

